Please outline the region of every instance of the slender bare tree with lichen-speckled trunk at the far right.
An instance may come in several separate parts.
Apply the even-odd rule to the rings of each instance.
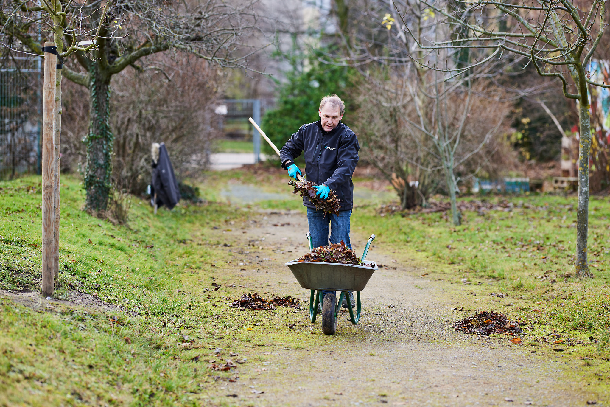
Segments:
[[[589,276],[587,264],[587,232],[589,223],[589,153],[591,147],[590,105],[587,85],[610,87],[589,78],[587,70],[603,37],[606,23],[605,0],[584,5],[571,0],[465,2],[450,0],[433,3],[416,0],[419,9],[430,10],[431,20],[446,27],[445,38],[422,38],[409,28],[409,7],[393,3],[403,21],[403,32],[425,52],[417,62],[451,74],[464,73],[472,67],[503,56],[523,57],[540,76],[557,77],[566,98],[579,104],[580,151],[578,156],[578,211],[576,215],[576,272]],[[449,66],[447,62],[430,60],[440,50],[476,52],[468,63]],[[570,80],[572,84],[570,84]],[[575,92],[575,93],[572,93]]]

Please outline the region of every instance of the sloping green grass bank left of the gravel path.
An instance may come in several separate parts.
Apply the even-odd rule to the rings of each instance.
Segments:
[[[38,291],[39,178],[0,182],[0,200],[0,286]],[[202,231],[239,225],[243,211],[208,204],[161,209],[154,217],[135,198],[126,228],[90,217],[83,204],[79,181],[64,177],[55,297],[77,290],[123,312],[0,299],[0,405],[190,405],[212,373],[229,375],[193,358],[218,346],[218,331],[234,325],[210,318],[217,312],[206,301],[220,293],[192,289],[219,259],[214,247],[221,242]],[[181,345],[191,337],[196,342]]]

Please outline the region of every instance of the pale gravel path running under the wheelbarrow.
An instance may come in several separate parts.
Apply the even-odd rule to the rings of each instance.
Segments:
[[[273,226],[282,223],[290,225]],[[360,253],[368,235],[358,225],[352,227],[358,232],[353,245]],[[266,246],[277,249],[262,271],[244,272],[246,277],[260,287],[294,284],[284,263],[304,253],[306,231],[301,214],[268,214],[247,233],[232,234],[237,243],[263,236]],[[599,395],[587,392],[586,384],[565,378],[575,367],[573,359],[450,330],[448,326],[464,317],[451,310],[456,298],[449,291],[454,287],[426,281],[420,277],[423,270],[410,265],[406,256],[372,248],[368,259],[396,269],[373,275],[362,291],[357,325],[348,314],[340,314],[337,334],[324,336],[319,318],[312,324],[308,312],[294,314],[290,332],[302,345],[259,348],[262,357],[242,366],[236,383],[219,382],[209,393],[212,400],[252,406],[602,404]],[[298,292],[309,298],[308,290],[299,287]],[[390,303],[395,308],[389,308]],[[280,328],[285,329],[267,327]],[[226,397],[229,394],[237,397]]]

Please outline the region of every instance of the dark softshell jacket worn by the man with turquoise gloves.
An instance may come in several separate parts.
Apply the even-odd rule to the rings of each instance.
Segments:
[[[321,121],[303,124],[299,131],[279,151],[282,167],[286,160],[294,160],[301,153],[305,156],[305,173],[309,181],[317,185],[326,184],[341,200],[341,211],[352,209],[354,183],[351,175],[358,163],[360,145],[356,134],[341,123],[329,132],[322,129]],[[314,205],[303,197],[303,204]]]

